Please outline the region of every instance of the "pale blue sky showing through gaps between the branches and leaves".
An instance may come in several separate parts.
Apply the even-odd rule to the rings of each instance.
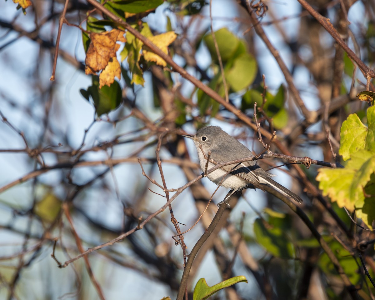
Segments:
[[[283,21],[280,24],[284,28],[284,31],[287,33],[290,39],[295,39],[298,34],[299,27],[299,18],[297,15],[300,12],[300,5],[297,1],[272,1],[267,3],[270,8],[270,12],[277,14],[278,18],[289,17],[287,21]],[[48,2],[41,3],[40,7],[45,7],[43,14],[48,13]],[[61,7],[56,6],[56,10],[62,9]],[[222,27],[227,27],[229,30],[236,32],[240,37],[243,37],[242,33],[246,30],[246,26],[240,24],[235,18],[239,17],[239,12],[234,5],[234,1],[229,0],[216,0],[213,1],[213,27],[214,30],[218,30]],[[34,18],[31,13],[28,13],[26,16],[22,14],[20,10],[16,10],[16,5],[12,1],[0,1],[0,20],[8,21],[17,19],[17,24],[20,24],[25,30],[33,30]],[[209,26],[208,18],[208,6],[204,8],[205,17],[200,20],[199,24],[196,22],[194,26],[191,27],[190,34],[194,36],[198,30]],[[156,13],[151,13],[144,21],[147,21],[151,28],[164,31],[166,26],[165,16],[173,17],[173,14],[166,10],[166,5],[162,5],[157,8]],[[353,31],[354,35],[356,32],[359,32],[362,29],[362,24],[365,24],[363,20],[363,6],[358,1],[351,9],[348,15],[348,19],[351,21],[350,28]],[[242,14],[242,16],[244,16]],[[267,18],[264,18],[263,21],[267,21]],[[333,20],[332,20],[333,21]],[[176,20],[172,19],[172,25],[176,24]],[[42,36],[45,39],[49,40],[51,32],[55,36],[57,30],[57,24],[47,23],[42,27]],[[284,41],[274,26],[265,26],[264,30],[272,41],[273,45],[278,48],[281,53],[282,58],[287,63],[287,66],[291,66],[291,54],[290,49],[284,45]],[[178,32],[177,32],[178,33]],[[13,39],[16,39],[15,42],[9,43]],[[53,40],[54,42],[54,40]],[[327,43],[332,43],[332,38],[327,36]],[[350,44],[351,45],[351,44]],[[77,58],[78,61],[83,62],[85,58],[85,53],[82,46],[81,32],[78,28],[69,27],[64,25],[62,30],[62,39],[60,42],[60,48],[69,52],[71,55]],[[270,56],[269,51],[264,46],[263,42],[256,38],[255,48],[258,53],[261,53],[259,56],[259,68],[262,74],[266,75],[267,84],[271,90],[277,90],[279,85],[283,82],[284,76],[282,75],[278,65],[276,64],[273,57]],[[35,42],[31,41],[27,37],[19,38],[15,33],[8,33],[8,30],[0,28],[0,68],[2,70],[0,75],[0,110],[6,116],[10,123],[12,123],[16,128],[22,130],[25,133],[25,136],[30,143],[30,146],[36,145],[39,141],[40,136],[42,135],[42,126],[38,122],[38,116],[43,116],[44,110],[43,107],[37,104],[39,98],[43,97],[43,90],[48,90],[51,87],[51,82],[49,78],[51,76],[51,66],[52,62],[49,60],[48,56],[45,55],[47,59],[43,60],[42,64],[37,66],[38,76],[33,73],[36,64],[39,64],[39,46]],[[304,52],[301,55],[308,57],[309,49],[304,49]],[[199,49],[197,54],[198,63],[201,66],[207,66],[210,63],[209,52],[203,46]],[[177,62],[181,62],[181,59],[176,57]],[[147,113],[148,117],[151,120],[157,120],[161,116],[159,111],[153,107],[153,99],[151,94],[151,89],[148,86],[150,83],[150,77],[145,76],[146,84],[145,87],[138,87],[136,89],[137,103],[142,107],[142,109]],[[314,84],[311,83],[311,79],[308,77],[308,72],[304,69],[297,69],[294,74],[294,80],[296,86],[301,90],[301,97],[304,100],[306,107],[309,110],[316,110],[320,107],[320,102],[317,98],[317,91],[314,87]],[[83,74],[81,71],[77,71],[69,63],[66,63],[62,58],[58,59],[57,63],[57,72],[56,72],[56,81],[53,84],[54,89],[54,99],[52,101],[51,115],[50,118],[54,120],[53,126],[55,126],[56,131],[61,131],[66,135],[69,145],[72,147],[79,147],[84,130],[87,129],[93,121],[94,108],[87,102],[80,94],[80,89],[86,89],[91,85],[90,77]],[[121,82],[123,85],[123,82]],[[39,93],[35,93],[35,87],[39,88]],[[10,105],[10,104],[14,105]],[[24,111],[29,111],[30,114],[20,113],[19,108],[23,108]],[[27,109],[26,109],[27,108]],[[120,108],[120,110],[126,113],[126,109]],[[118,111],[117,111],[118,113]],[[114,113],[110,114],[110,117]],[[222,126],[224,130],[228,133],[235,133],[233,127],[224,124],[219,121],[212,121],[212,124]],[[132,135],[129,134],[135,128],[141,126],[141,124],[133,119],[129,118],[126,121],[123,121],[117,124],[116,127],[113,127],[107,122],[97,122],[92,129],[90,129],[87,138],[86,144],[93,145],[95,141],[106,141],[111,138],[113,135],[120,135],[123,139],[127,139]],[[185,126],[184,129],[187,132],[194,133],[192,126]],[[314,129],[312,129],[314,130]],[[54,141],[55,144],[58,144],[62,141]],[[250,144],[247,144],[248,147],[251,147]],[[193,147],[192,142],[187,141],[187,146],[189,147],[189,152],[195,161],[196,153],[195,148]],[[9,128],[5,123],[0,123],[0,149],[22,149],[24,148],[24,142],[20,135],[16,134],[12,129]],[[114,157],[124,157],[126,154],[130,154],[135,150],[134,144],[124,144],[115,147]],[[314,159],[322,159],[322,154],[312,149],[304,149],[305,153],[300,153],[303,155],[300,156],[311,156]],[[142,153],[144,156],[153,157],[154,148],[148,149]],[[166,157],[168,154],[166,151],[162,151],[162,157]],[[104,153],[89,153],[85,156],[88,160],[99,160],[106,159],[107,156]],[[46,154],[45,156],[46,164],[52,165],[56,163],[56,158],[53,155]],[[0,165],[3,172],[0,172],[0,186],[4,186],[7,183],[10,183],[17,178],[27,174],[33,169],[33,165],[30,164],[30,159],[25,154],[17,153],[0,153]],[[95,171],[104,169],[104,167],[95,168]],[[173,165],[164,165],[164,172],[166,174],[166,182],[168,187],[177,188],[186,183],[186,178],[180,172],[180,170]],[[147,167],[146,171],[150,171],[150,168]],[[92,168],[78,168],[74,171],[74,180],[79,182],[86,181],[86,178],[90,175],[93,175]],[[277,174],[277,180],[288,187],[291,183],[288,177],[284,176],[282,171],[276,170],[272,171]],[[159,180],[157,170],[152,174],[152,177],[156,180]],[[61,174],[58,171],[50,171],[45,175],[42,175],[39,178],[41,183],[55,186],[55,192],[59,193],[58,183],[60,182]],[[129,168],[129,165],[118,166],[114,170],[114,175],[107,177],[107,183],[111,186],[117,185],[118,191],[121,198],[132,198],[133,193],[137,192],[137,189],[134,189],[139,182],[144,182],[147,180],[141,175],[141,170],[138,164],[133,165]],[[159,180],[160,182],[160,180]],[[207,178],[203,179],[204,185],[210,192],[213,192],[216,189],[216,185],[211,183]],[[23,210],[30,203],[30,193],[31,193],[31,182],[19,184],[4,193],[0,194],[0,225],[6,225],[9,222],[12,222],[12,210],[9,210],[9,203],[12,204],[12,207],[18,207],[20,210]],[[38,191],[36,191],[38,192]],[[40,191],[43,192],[43,191]],[[63,195],[63,190],[60,191]],[[214,199],[216,202],[219,202],[223,196],[226,194],[227,190],[220,187],[219,191],[216,193]],[[89,193],[91,195],[85,195],[88,199],[91,197],[101,196],[98,191],[91,190]],[[165,200],[155,194],[150,193],[149,197],[152,199],[150,201],[151,206],[147,207],[148,211],[154,211],[159,209],[164,203]],[[261,199],[263,197],[263,192],[249,190],[246,192],[246,198],[248,199]],[[252,205],[257,210],[261,210],[264,207],[265,201],[257,200],[252,202]],[[109,227],[117,228],[121,223],[122,218],[122,206],[118,199],[113,201],[108,201],[106,205],[102,206],[93,206],[90,205],[90,201],[82,201],[81,208],[86,210],[88,214],[96,216],[102,220]],[[188,208],[188,209],[187,209]],[[190,209],[191,208],[191,209]],[[246,219],[246,230],[250,233],[252,232],[252,222],[254,221],[257,214],[252,211],[252,208],[245,202],[241,201],[237,205],[236,210],[233,211],[233,219],[239,216],[242,211],[247,213]],[[174,212],[176,215],[179,215],[181,219],[190,220],[195,216],[195,205],[193,199],[188,190],[183,192],[178,199],[174,202]],[[164,212],[168,216],[168,212]],[[77,222],[79,222],[77,220]],[[189,224],[188,224],[189,225]],[[27,226],[26,217],[18,217],[17,222],[13,226],[15,228],[24,228]],[[34,225],[35,228],[31,228],[37,232],[40,228],[38,225]],[[101,241],[100,236],[90,236],[87,237],[87,232],[89,228],[86,228],[87,224],[77,224],[77,228],[80,228],[81,234],[89,239],[89,242],[97,245]],[[189,234],[186,235],[185,240],[189,245],[193,245],[196,241],[196,237],[201,233],[201,228],[194,228]],[[141,234],[141,233],[140,233]],[[171,232],[166,233],[166,240],[172,243],[170,239]],[[3,255],[14,253],[15,249],[20,246],[23,237],[17,236],[14,232],[10,232],[4,229],[0,229],[0,252]],[[178,249],[177,249],[178,248]],[[126,241],[123,243],[118,243],[113,246],[115,251],[125,252],[126,253]],[[180,248],[176,247],[176,255],[180,254]],[[42,254],[38,258],[38,263],[34,263],[33,266],[25,270],[23,274],[24,278],[27,280],[21,281],[21,285],[25,285],[25,290],[21,287],[21,290],[26,291],[26,287],[30,288],[29,293],[35,295],[34,299],[37,299],[40,295],[40,291],[43,290],[46,282],[49,278],[60,278],[62,282],[65,280],[69,282],[69,278],[74,275],[71,268],[58,269],[55,262],[50,257],[51,247],[43,248]],[[61,259],[64,260],[63,254],[61,254]],[[129,260],[134,259],[130,253]],[[255,252],[254,256],[263,255],[261,252]],[[206,260],[206,266],[211,266],[213,261],[213,256],[210,254]],[[107,299],[118,299],[119,295],[124,295],[126,293],[127,299],[138,298],[140,286],[146,286],[147,288],[142,288],[142,297],[144,299],[161,299],[163,296],[167,296],[168,288],[163,287],[160,283],[154,283],[147,278],[144,278],[143,275],[138,272],[133,272],[130,269],[122,268],[116,266],[115,264],[108,264],[108,261],[105,260],[102,256],[93,254],[92,260],[94,273],[97,271],[99,277],[102,280],[106,281],[108,286],[113,285],[115,289],[110,290],[111,294],[107,294]],[[135,262],[136,263],[136,262]],[[1,266],[0,262],[0,266]],[[82,263],[78,263],[78,265]],[[4,264],[3,264],[4,266]],[[100,272],[103,268],[106,268],[105,272]],[[1,269],[0,269],[1,272]],[[83,272],[83,274],[86,274]],[[83,282],[89,281],[89,278],[83,276]],[[220,280],[218,277],[218,272],[215,270],[205,267],[205,264],[202,265],[200,272],[196,276],[196,280],[204,277],[206,278],[209,285],[212,285]],[[251,278],[249,285],[242,287],[247,291],[251,290]],[[30,281],[33,282],[30,285]],[[119,281],[119,282],[116,282]],[[90,286],[90,284],[89,284]],[[87,285],[83,285],[87,287]],[[121,289],[118,289],[121,287]],[[67,293],[67,291],[74,290],[72,288],[66,288],[65,285],[56,284],[52,288],[54,290],[54,295],[60,295]],[[87,299],[95,299],[96,292],[89,288],[86,291]],[[252,295],[254,299],[257,299],[257,295]],[[0,291],[1,298],[1,291]],[[21,299],[26,299],[22,298]]]

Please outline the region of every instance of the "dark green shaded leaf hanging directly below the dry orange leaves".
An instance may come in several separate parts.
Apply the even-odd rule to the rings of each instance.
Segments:
[[[90,95],[94,102],[96,114],[100,117],[102,114],[107,114],[114,110],[121,104],[121,87],[117,81],[114,81],[111,86],[103,86],[99,89],[99,77],[93,76],[93,85],[87,88],[86,93],[81,94],[86,98]],[[87,98],[86,98],[87,99]]]

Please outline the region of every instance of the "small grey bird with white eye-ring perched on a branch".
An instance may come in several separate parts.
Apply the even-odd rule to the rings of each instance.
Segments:
[[[211,153],[209,156],[210,160],[216,163],[230,162],[232,160],[254,156],[245,145],[223,131],[219,126],[206,126],[199,129],[194,136],[184,136],[193,140],[196,150],[198,151],[199,165],[203,172],[206,169],[209,152]],[[207,170],[214,166],[214,163],[208,162]],[[223,176],[225,177],[222,181]],[[234,163],[232,165],[222,166],[207,174],[208,179],[212,182],[219,185],[220,181],[222,181],[221,186],[233,190],[229,196],[242,189],[259,188],[264,190],[262,186],[270,186],[285,196],[299,203],[302,202],[300,196],[271,179],[270,177],[272,176],[274,175],[264,171],[256,161],[246,161],[239,164]],[[229,198],[229,196],[227,198]]]

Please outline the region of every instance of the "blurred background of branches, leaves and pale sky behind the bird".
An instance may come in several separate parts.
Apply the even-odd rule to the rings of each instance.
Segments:
[[[373,66],[373,1],[308,2]],[[204,124],[218,125],[254,153],[263,149],[258,136],[168,68],[140,60],[144,86],[132,82],[128,58],[121,57],[123,45],[117,52],[122,62],[121,80],[117,80],[121,93],[116,96],[120,98],[111,98],[120,100],[119,105],[99,110],[98,103],[82,93],[94,84],[84,72],[87,49],[81,28],[87,28],[88,15],[105,17],[85,1],[69,2],[55,81],[49,81],[65,3],[34,0],[32,4],[24,14],[12,1],[0,2],[0,299],[174,299],[183,252],[172,239],[176,231],[168,208],[142,230],[92,252],[86,262],[80,258],[64,268],[58,262],[63,264],[135,228],[139,218],[146,219],[165,204],[165,193],[142,175],[138,162],[141,158],[145,174],[162,185],[155,154],[161,134],[160,157],[168,189],[178,189],[201,174],[195,147],[181,134],[194,134]],[[238,1],[211,4],[225,83],[211,34],[208,0],[164,1],[127,21],[148,24],[153,35],[175,31],[178,37],[169,53],[178,65],[227,97],[249,120],[257,102],[261,126],[276,130],[277,139],[293,155],[335,162],[326,130],[337,153],[342,121],[353,112],[365,116],[368,105],[355,101],[357,93],[366,89],[365,77],[298,1],[247,5],[251,13]],[[251,15],[284,61],[297,93],[270,47],[255,32]],[[278,147],[271,149],[282,153]],[[265,169],[283,163],[260,161]],[[353,232],[348,229],[353,223],[335,204],[332,208],[322,204],[315,181],[318,166],[301,169],[305,179],[290,165],[271,172],[277,175],[275,180],[302,196],[303,210],[340,254],[352,283],[363,287],[361,297],[374,299],[358,260],[345,247],[353,245]],[[172,209],[181,231],[196,222],[215,189],[203,178],[178,194]],[[213,201],[221,201],[227,192],[220,187]],[[215,203],[184,234],[187,254],[208,227],[217,210]],[[245,275],[248,284],[220,291],[213,299],[348,297],[310,231],[278,199],[261,190],[246,190],[220,226],[222,230],[196,258],[189,291],[202,277],[214,285]],[[359,242],[371,240],[371,234],[357,228],[354,235]]]

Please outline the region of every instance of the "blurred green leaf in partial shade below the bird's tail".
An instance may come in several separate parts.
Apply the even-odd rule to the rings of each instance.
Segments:
[[[266,227],[261,219],[256,219],[254,233],[258,243],[272,255],[281,258],[294,258],[294,246],[281,228]]]

